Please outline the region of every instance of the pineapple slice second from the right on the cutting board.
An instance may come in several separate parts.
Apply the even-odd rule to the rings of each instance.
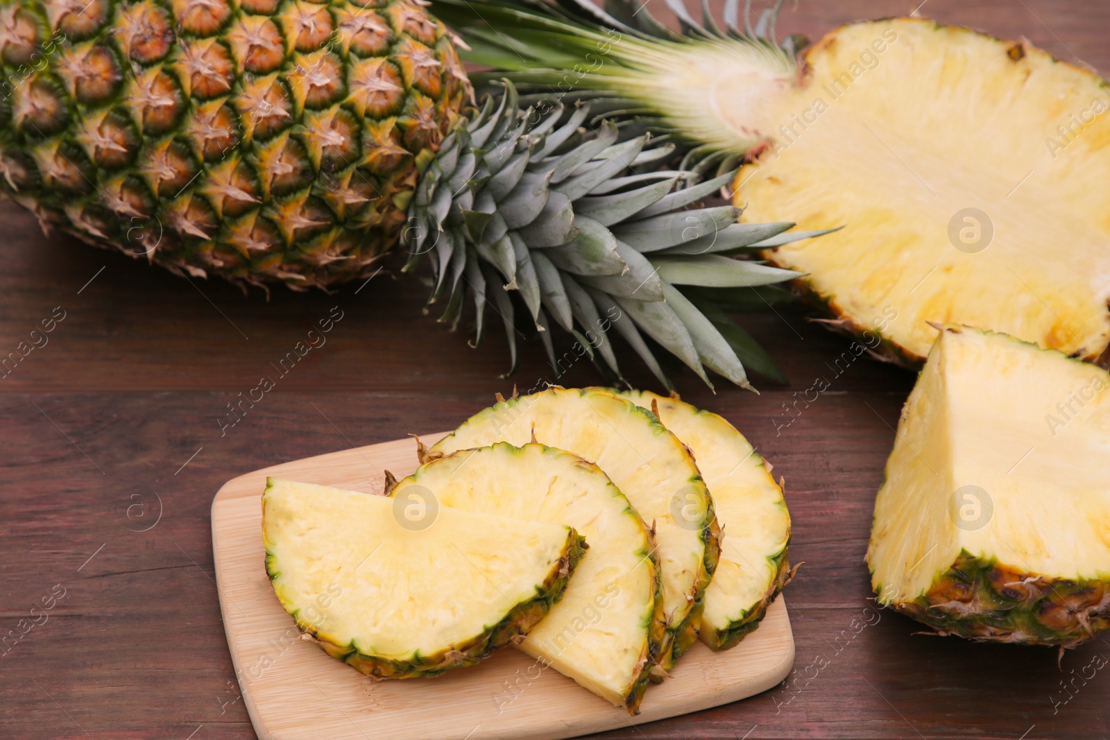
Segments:
[[[650,413],[604,391],[553,387],[478,412],[431,456],[538,440],[596,464],[655,534],[667,620],[659,666],[697,639],[692,624],[717,564],[713,499],[689,452]]]

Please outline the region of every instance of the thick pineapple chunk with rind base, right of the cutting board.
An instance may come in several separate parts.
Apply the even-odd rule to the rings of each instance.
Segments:
[[[945,635],[1072,647],[1110,625],[1110,375],[946,327],[898,424],[867,559]]]

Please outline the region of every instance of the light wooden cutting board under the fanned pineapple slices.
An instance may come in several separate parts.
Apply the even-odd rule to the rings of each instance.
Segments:
[[[416,465],[414,442],[397,439],[249,473],[224,484],[212,501],[220,609],[243,701],[262,740],[571,738],[736,701],[790,672],[794,637],[781,599],[731,650],[692,647],[672,678],[648,688],[636,717],[509,648],[473,668],[402,681],[374,681],[330,658],[299,639],[270,586],[262,547],[266,476],[377,494],[386,469],[401,478]]]

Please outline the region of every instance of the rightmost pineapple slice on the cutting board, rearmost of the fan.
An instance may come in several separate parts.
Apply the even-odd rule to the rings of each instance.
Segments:
[[[750,501],[745,499],[745,509],[749,515],[765,511],[771,516],[771,521],[767,523],[768,526],[780,527],[780,529],[768,533],[774,536],[775,541],[770,551],[750,554],[755,559],[763,558],[768,565],[765,574],[753,572],[755,568],[749,560],[749,554],[736,551],[736,555],[743,560],[743,562],[736,562],[743,574],[738,575],[736,580],[741,582],[758,581],[758,585],[748,589],[748,594],[751,590],[758,594],[754,600],[737,602],[735,594],[729,594],[724,589],[717,590],[714,586],[709,586],[699,601],[700,607],[695,617],[696,637],[699,637],[714,650],[726,650],[758,627],[759,621],[767,612],[767,607],[789,580],[790,517],[783,499],[781,488],[770,476],[764,459],[755,453],[747,439],[722,416],[698,409],[684,403],[677,396],[668,398],[648,391],[610,391],[610,393],[628,398],[645,409],[652,407],[654,403],[655,408],[662,415],[660,422],[664,425],[669,425],[668,428],[690,448],[694,459],[699,464],[699,469],[706,479],[706,485],[709,486],[709,493],[714,496],[716,518],[723,533],[718,548],[719,558],[736,562],[736,558],[730,557],[728,548],[729,521],[722,521],[720,518],[723,509],[728,503],[731,503],[728,499],[730,491],[737,487],[741,488],[745,494],[753,489],[765,493],[761,498]],[[722,470],[722,474],[717,475],[712,464],[715,460],[725,459],[737,459],[739,463],[731,470],[727,473]],[[741,466],[747,467],[741,468]],[[716,493],[714,493],[715,490]],[[733,511],[733,517],[735,518],[737,514],[737,511]],[[735,530],[741,525],[739,521],[733,521],[731,526]],[[714,579],[718,587],[723,585],[720,579],[730,577],[723,574],[718,562],[714,571]],[[722,604],[716,605],[717,608],[714,611],[725,611],[729,614],[729,617],[719,624],[709,625],[703,612],[705,604],[715,598],[722,600]]]

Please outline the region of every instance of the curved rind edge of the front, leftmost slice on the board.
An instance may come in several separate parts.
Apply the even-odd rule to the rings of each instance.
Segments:
[[[275,478],[266,479],[266,489],[263,493],[263,513],[266,511],[266,501],[275,484],[283,484]],[[329,490],[322,488],[322,493]],[[345,494],[347,491],[339,491]],[[363,496],[364,494],[359,494]],[[567,527],[566,541],[562,547],[561,555],[553,561],[553,565],[543,579],[536,584],[535,595],[526,598],[505,612],[505,616],[497,622],[486,626],[473,638],[457,641],[443,649],[422,655],[417,649],[410,657],[404,659],[386,658],[383,656],[367,655],[361,652],[355,647],[355,640],[340,643],[322,633],[317,625],[312,620],[302,618],[304,608],[299,608],[282,589],[278,587],[278,579],[281,577],[281,557],[274,551],[266,528],[266,517],[263,515],[263,533],[266,546],[265,567],[270,580],[274,582],[274,591],[282,607],[293,617],[297,628],[305,635],[311,635],[320,647],[333,658],[337,658],[350,665],[361,673],[374,678],[432,678],[440,676],[451,668],[473,666],[487,658],[491,653],[505,645],[519,639],[526,635],[539,620],[542,620],[554,604],[563,596],[575,567],[582,559],[588,545],[585,538],[572,527]]]

